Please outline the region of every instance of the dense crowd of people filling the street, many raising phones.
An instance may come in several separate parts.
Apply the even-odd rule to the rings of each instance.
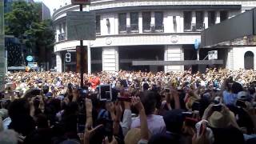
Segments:
[[[72,72],[8,73],[0,143],[256,143],[255,78],[254,70],[118,71],[84,74],[81,87]]]

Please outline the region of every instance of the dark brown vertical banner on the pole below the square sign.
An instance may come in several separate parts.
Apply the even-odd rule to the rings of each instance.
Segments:
[[[83,73],[87,74],[88,72],[87,46],[82,46],[82,48],[81,46],[77,46],[76,51],[77,51],[77,73],[81,73],[81,70],[83,70]],[[82,62],[81,62],[81,59],[82,59]]]

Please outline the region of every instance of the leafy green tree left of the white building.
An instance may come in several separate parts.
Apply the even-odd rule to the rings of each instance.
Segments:
[[[40,19],[40,5],[27,2],[14,2],[12,10],[5,14],[6,34],[14,35],[28,54],[36,57],[37,62],[50,60],[54,46],[54,30],[51,20]]]

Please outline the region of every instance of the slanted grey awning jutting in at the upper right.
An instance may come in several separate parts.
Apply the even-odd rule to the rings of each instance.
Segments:
[[[256,46],[256,8],[203,30],[200,47],[214,46]]]

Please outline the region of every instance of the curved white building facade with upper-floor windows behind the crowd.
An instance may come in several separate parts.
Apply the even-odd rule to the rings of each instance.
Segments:
[[[188,70],[191,66],[132,66],[132,61],[196,60],[194,42],[201,38],[200,31],[254,6],[256,2],[252,0],[91,0],[90,11],[96,13],[97,36],[94,41],[83,42],[88,47],[88,72]],[[52,16],[59,72],[75,71],[74,50],[80,43],[66,40],[66,12],[78,10],[79,6],[66,3]],[[256,54],[254,46],[225,46],[200,50],[200,59],[205,58],[209,50],[218,50],[218,59],[224,61],[222,67],[230,70],[245,68],[247,52],[250,57]],[[65,62],[68,51],[71,51],[71,62]],[[256,62],[254,57],[253,61]]]

